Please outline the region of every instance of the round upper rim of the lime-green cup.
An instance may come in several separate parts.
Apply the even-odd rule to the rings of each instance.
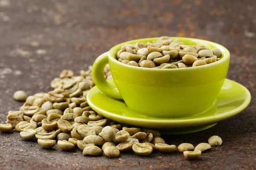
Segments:
[[[159,68],[144,68],[144,67],[134,67],[133,65],[127,65],[124,64],[122,62],[119,62],[115,56],[116,53],[113,53],[113,51],[116,51],[116,48],[121,48],[122,45],[125,44],[135,44],[136,42],[145,42],[145,41],[154,41],[154,40],[159,40],[160,37],[152,37],[152,38],[143,38],[143,39],[137,39],[137,40],[130,40],[130,41],[126,41],[126,42],[122,42],[118,45],[113,46],[109,52],[108,52],[108,59],[111,59],[111,61],[115,62],[118,65],[122,65],[122,67],[128,67],[128,68],[133,68],[133,69],[137,69],[137,70],[145,70],[145,71],[184,71],[184,70],[198,70],[198,69],[204,69],[204,68],[208,68],[208,67],[212,67],[214,65],[218,65],[221,64],[223,62],[226,62],[227,60],[230,59],[230,52],[228,51],[227,48],[225,48],[223,45],[220,45],[216,42],[212,42],[212,41],[208,41],[208,40],[202,40],[202,39],[197,39],[197,38],[189,38],[189,37],[170,37],[172,39],[178,39],[182,42],[182,40],[190,40],[193,42],[201,42],[200,45],[214,45],[216,48],[219,48],[222,52],[222,54],[224,54],[224,56],[216,62],[212,62],[206,65],[200,65],[197,67],[187,67],[187,68],[179,68],[179,69],[159,69]],[[112,55],[111,55],[112,54]]]

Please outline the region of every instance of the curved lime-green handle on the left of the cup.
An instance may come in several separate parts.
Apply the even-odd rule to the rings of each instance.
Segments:
[[[101,54],[93,63],[92,76],[93,81],[97,88],[102,91],[104,94],[115,98],[122,99],[122,96],[118,89],[109,84],[104,77],[104,68],[108,64],[108,52]]]

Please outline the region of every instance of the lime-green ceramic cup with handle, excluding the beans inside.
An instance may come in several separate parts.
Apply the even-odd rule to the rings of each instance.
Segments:
[[[156,118],[178,118],[203,113],[214,105],[221,90],[230,61],[227,48],[215,42],[184,37],[172,37],[186,45],[219,48],[219,61],[190,68],[140,68],[116,60],[122,45],[152,42],[159,38],[132,40],[114,46],[99,56],[93,64],[93,81],[104,94],[123,99],[131,111]],[[109,63],[115,86],[104,78]],[[111,105],[111,103],[110,103]],[[115,106],[113,106],[115,107]]]

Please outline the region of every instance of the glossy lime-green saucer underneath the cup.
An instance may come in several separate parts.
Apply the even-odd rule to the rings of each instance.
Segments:
[[[114,85],[113,80],[109,81]],[[123,100],[113,99],[103,94],[95,86],[87,95],[87,102],[102,116],[126,125],[158,129],[166,134],[193,133],[208,129],[243,111],[250,103],[250,92],[243,85],[226,79],[215,105],[208,111],[194,116],[163,119],[134,113]]]

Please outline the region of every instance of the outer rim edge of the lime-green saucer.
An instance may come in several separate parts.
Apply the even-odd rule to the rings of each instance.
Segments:
[[[97,111],[98,113],[102,114],[102,116],[105,116],[105,117],[116,117],[118,119],[125,119],[126,121],[131,121],[131,125],[134,125],[134,121],[138,122],[143,122],[143,123],[171,123],[173,127],[185,127],[185,125],[188,125],[186,127],[198,127],[198,126],[204,126],[204,125],[210,125],[210,124],[215,124],[215,123],[218,123],[220,121],[223,121],[223,120],[226,120],[226,119],[229,119],[230,117],[233,117],[235,116],[236,114],[240,113],[241,111],[243,111],[249,104],[250,104],[250,101],[251,101],[251,94],[250,94],[250,91],[244,87],[243,85],[241,85],[240,83],[238,82],[235,82],[233,80],[230,80],[230,79],[225,79],[225,81],[228,81],[228,82],[231,82],[231,83],[234,83],[234,84],[237,84],[239,85],[241,88],[244,89],[245,93],[246,93],[246,99],[245,101],[243,102],[242,105],[240,105],[239,107],[233,109],[232,111],[228,111],[226,113],[222,113],[222,114],[219,114],[219,115],[214,115],[214,116],[207,116],[207,117],[203,117],[203,118],[195,118],[193,119],[192,117],[193,116],[190,116],[189,118],[190,119],[182,119],[182,120],[171,120],[173,118],[157,118],[157,119],[142,119],[142,118],[136,118],[136,117],[127,117],[127,116],[121,116],[121,115],[117,115],[115,113],[110,113],[108,111],[104,111],[100,108],[97,108],[95,105],[93,105],[93,103],[90,101],[89,99],[89,94],[90,94],[90,91],[93,89],[93,88],[96,88],[96,86],[94,86],[90,91],[89,93],[87,94],[87,102],[88,104],[90,105],[91,108],[93,108],[93,110]],[[106,116],[107,115],[107,116]],[[110,118],[111,119],[111,118]],[[165,120],[162,120],[162,119],[165,119]],[[200,125],[198,125],[198,123]],[[192,125],[195,125],[195,126],[192,126]]]

